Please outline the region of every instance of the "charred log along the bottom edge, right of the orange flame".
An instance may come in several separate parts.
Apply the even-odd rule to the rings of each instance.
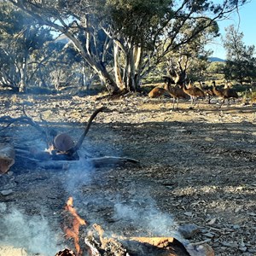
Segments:
[[[194,246],[174,237],[119,237],[115,240],[100,236],[99,240],[91,234],[85,237],[91,256],[214,256],[212,247],[207,244]]]

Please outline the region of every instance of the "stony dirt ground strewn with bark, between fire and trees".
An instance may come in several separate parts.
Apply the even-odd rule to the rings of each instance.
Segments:
[[[25,106],[32,119],[45,125],[41,114],[48,127],[74,140],[96,108],[108,107],[109,113],[96,116],[80,154],[125,156],[140,165],[82,162],[55,170],[17,154],[0,177],[2,246],[47,256],[72,247],[61,230],[61,212],[73,196],[79,215],[107,234],[178,236],[181,225],[195,224],[188,240],[207,241],[215,255],[256,255],[256,108],[239,101],[218,108],[218,99],[189,104],[181,101],[172,111],[170,98],[3,93],[1,116],[24,115]],[[31,126],[0,132],[2,142],[15,148],[45,148]]]

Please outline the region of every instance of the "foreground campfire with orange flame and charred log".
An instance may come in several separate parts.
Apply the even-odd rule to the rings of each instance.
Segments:
[[[73,240],[72,249],[65,248],[55,256],[214,256],[212,247],[207,244],[189,244],[175,237],[123,237],[104,236],[105,232],[99,224],[88,224],[79,216],[73,207],[73,197],[69,197],[64,207],[64,232],[67,239]],[[86,230],[84,241],[81,241],[80,228]],[[84,248],[84,251],[81,249]],[[84,254],[85,253],[85,254]]]

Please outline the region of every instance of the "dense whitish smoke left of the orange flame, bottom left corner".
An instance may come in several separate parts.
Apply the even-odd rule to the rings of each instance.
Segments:
[[[1,207],[4,210],[5,207]],[[2,215],[3,211],[0,212]],[[57,247],[55,232],[43,216],[27,216],[17,209],[4,214],[0,220],[0,245],[23,247],[29,253],[55,255]],[[59,250],[58,250],[59,249]]]

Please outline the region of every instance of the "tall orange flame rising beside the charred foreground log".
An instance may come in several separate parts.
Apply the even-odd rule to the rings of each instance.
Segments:
[[[81,255],[81,250],[79,246],[79,228],[81,225],[86,225],[87,223],[83,218],[79,217],[76,209],[73,207],[73,197],[69,197],[65,206],[65,210],[70,212],[73,220],[71,221],[71,227],[67,225],[64,227],[64,231],[67,235],[67,238],[73,238],[74,246],[76,248],[77,254]],[[70,222],[70,219],[69,219]]]

